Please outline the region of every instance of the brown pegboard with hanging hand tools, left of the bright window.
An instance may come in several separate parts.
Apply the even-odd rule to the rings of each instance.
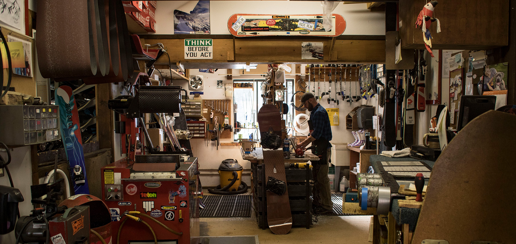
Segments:
[[[207,119],[206,124],[209,125],[209,129],[213,130],[215,123],[212,118],[209,117],[209,114],[213,111],[213,118],[218,116],[218,123],[222,127],[224,125],[224,111],[228,112],[229,115],[229,125],[233,126],[231,122],[231,108],[233,107],[233,103],[231,103],[231,99],[214,99],[214,100],[202,100],[203,109],[202,116]],[[211,136],[208,133],[208,136]],[[233,132],[230,130],[223,130],[220,133],[220,139],[229,139],[233,138]]]

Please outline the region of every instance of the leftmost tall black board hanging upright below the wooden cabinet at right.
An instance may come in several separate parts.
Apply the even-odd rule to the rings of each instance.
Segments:
[[[396,146],[396,70],[385,70],[385,105],[383,109],[383,144]]]

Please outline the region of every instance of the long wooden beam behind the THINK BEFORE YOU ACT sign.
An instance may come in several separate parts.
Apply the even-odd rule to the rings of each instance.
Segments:
[[[209,37],[206,37],[209,38]],[[331,59],[319,60],[319,63],[385,63],[385,39],[261,39],[231,38],[213,39],[213,59],[184,59],[182,39],[151,39],[150,43],[161,42],[170,54],[171,62],[195,63],[301,63],[310,64],[313,60],[301,59],[301,42],[323,42],[326,49],[334,53]],[[333,45],[332,45],[333,43]],[[228,60],[229,53],[234,52],[234,59]],[[325,51],[328,55],[329,51]],[[161,57],[156,65],[168,65],[167,57]]]

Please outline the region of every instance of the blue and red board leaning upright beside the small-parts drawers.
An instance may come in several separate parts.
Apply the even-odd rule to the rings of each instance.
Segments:
[[[56,89],[56,105],[59,105],[61,139],[70,164],[70,176],[75,194],[89,194],[86,165],[84,164],[83,139],[80,136],[79,112],[70,86]]]

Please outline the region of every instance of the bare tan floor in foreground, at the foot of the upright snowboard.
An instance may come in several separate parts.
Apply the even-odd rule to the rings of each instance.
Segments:
[[[201,236],[258,235],[260,244],[269,243],[365,243],[369,237],[370,216],[319,216],[309,230],[293,227],[286,235],[262,230],[251,218],[200,218]]]

